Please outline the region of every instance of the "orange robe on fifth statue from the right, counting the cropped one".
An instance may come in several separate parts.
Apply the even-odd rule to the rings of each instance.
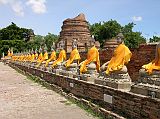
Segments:
[[[55,67],[57,64],[63,62],[64,60],[66,60],[66,51],[61,50],[61,52],[59,53],[58,59],[53,62],[52,67]]]

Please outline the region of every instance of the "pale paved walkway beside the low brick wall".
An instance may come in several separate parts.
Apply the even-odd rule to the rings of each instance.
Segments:
[[[75,104],[0,63],[0,119],[95,119]]]

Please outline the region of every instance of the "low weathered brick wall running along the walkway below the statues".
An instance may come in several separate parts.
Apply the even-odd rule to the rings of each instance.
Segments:
[[[147,96],[122,92],[107,86],[92,84],[54,73],[11,64],[38,76],[49,83],[62,87],[79,98],[91,100],[101,107],[130,119],[160,119],[160,100]]]

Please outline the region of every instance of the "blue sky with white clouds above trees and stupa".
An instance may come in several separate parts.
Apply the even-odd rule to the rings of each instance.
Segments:
[[[0,0],[0,28],[11,22],[35,34],[59,34],[63,20],[84,13],[91,24],[134,22],[146,38],[160,36],[160,0]]]

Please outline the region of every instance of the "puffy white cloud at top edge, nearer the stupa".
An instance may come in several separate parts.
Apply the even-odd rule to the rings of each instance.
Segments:
[[[30,6],[34,13],[43,14],[46,12],[46,0],[28,0],[26,4]]]

